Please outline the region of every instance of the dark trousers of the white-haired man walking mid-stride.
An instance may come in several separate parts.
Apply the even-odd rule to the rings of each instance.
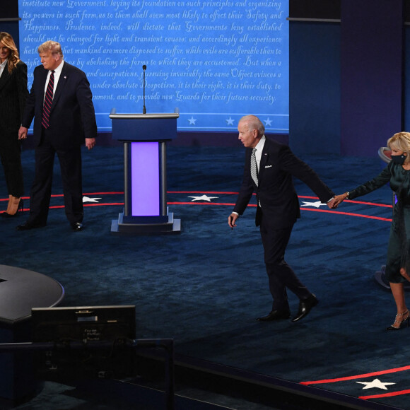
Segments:
[[[262,216],[260,232],[264,245],[264,262],[269,278],[269,291],[274,299],[272,310],[289,308],[286,288],[299,299],[306,299],[310,291],[298,279],[295,272],[285,261],[286,246],[291,238],[293,224],[283,229],[272,228]]]

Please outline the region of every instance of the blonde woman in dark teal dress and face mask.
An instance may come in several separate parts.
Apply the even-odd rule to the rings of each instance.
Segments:
[[[393,298],[397,306],[394,323],[387,330],[399,330],[409,326],[409,309],[404,297],[404,282],[410,281],[410,133],[399,132],[387,141],[392,150],[392,160],[373,180],[359,185],[349,192],[336,195],[334,208],[345,199],[354,199],[368,194],[389,182],[396,193],[392,225],[390,226],[387,246],[386,278],[390,283]]]

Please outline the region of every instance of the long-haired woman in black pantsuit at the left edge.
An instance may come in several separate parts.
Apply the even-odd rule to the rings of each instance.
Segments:
[[[1,216],[16,216],[23,209],[23,169],[21,167],[21,126],[28,96],[27,66],[18,58],[13,37],[0,33],[0,159],[8,189],[7,211]]]

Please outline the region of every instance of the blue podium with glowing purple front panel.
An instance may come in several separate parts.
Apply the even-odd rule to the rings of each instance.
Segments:
[[[180,233],[168,213],[166,143],[177,137],[177,113],[110,113],[112,138],[124,143],[124,212],[113,220],[119,234]]]

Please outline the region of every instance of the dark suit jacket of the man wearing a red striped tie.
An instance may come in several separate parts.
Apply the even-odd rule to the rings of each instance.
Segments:
[[[42,107],[48,70],[35,67],[33,86],[28,96],[23,127],[30,127],[34,117],[35,144],[42,135]],[[64,61],[49,116],[49,135],[56,148],[71,148],[97,136],[93,94],[86,74]]]

